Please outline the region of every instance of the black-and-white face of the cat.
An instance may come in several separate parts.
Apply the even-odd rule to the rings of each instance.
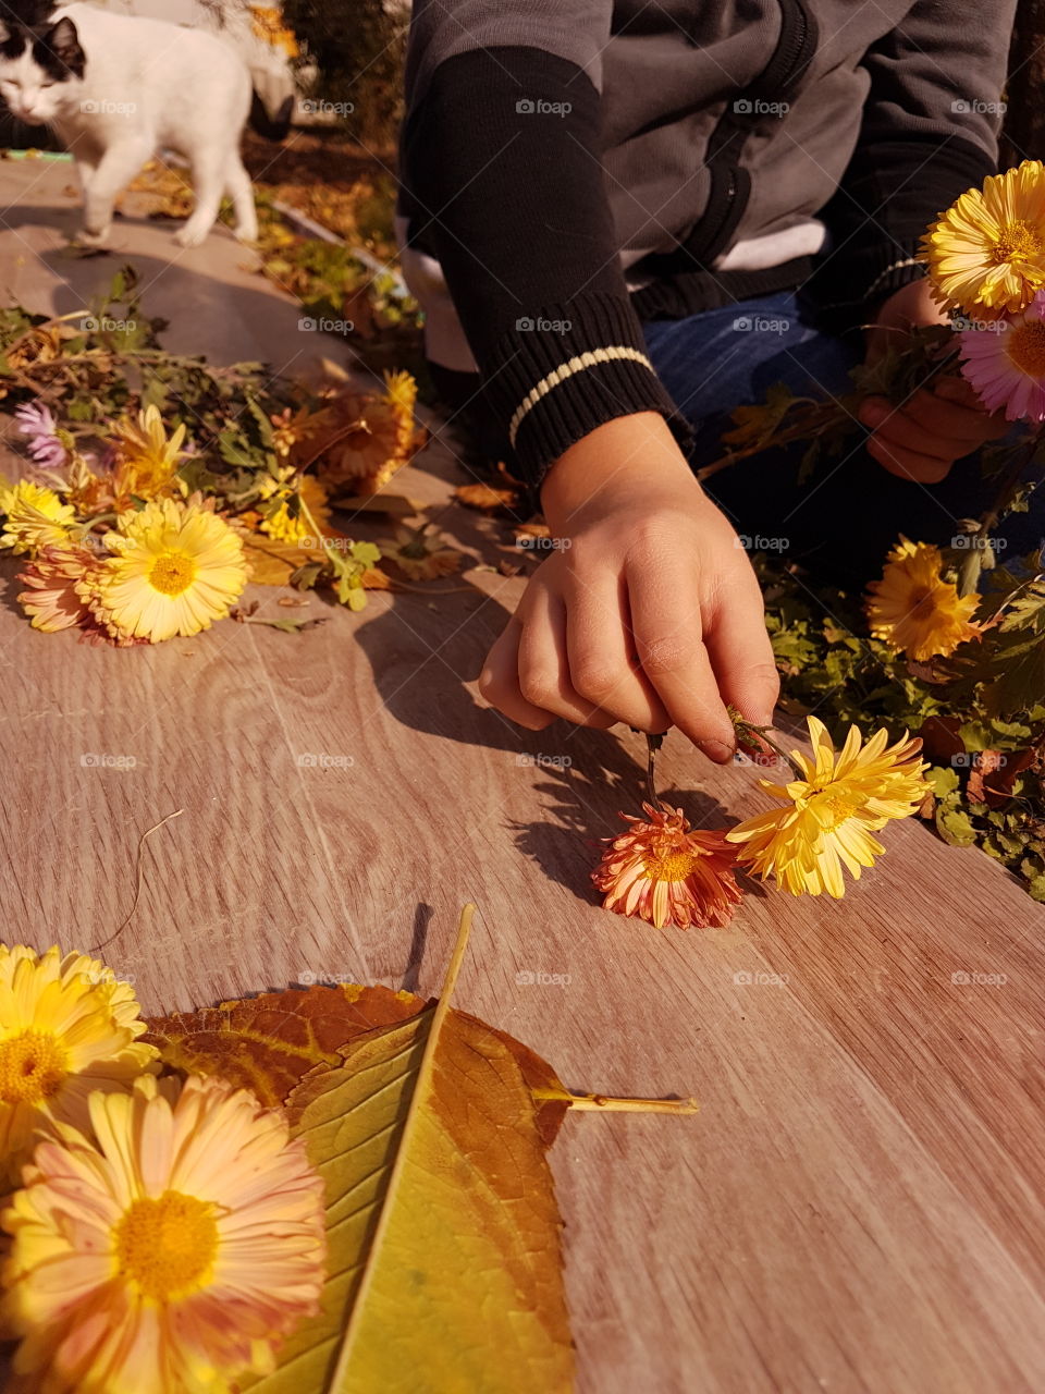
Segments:
[[[86,59],[71,20],[28,29],[0,24],[0,96],[28,125],[46,125],[75,106]]]

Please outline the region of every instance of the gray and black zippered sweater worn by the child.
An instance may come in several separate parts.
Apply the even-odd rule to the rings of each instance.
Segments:
[[[641,323],[805,287],[842,328],[996,167],[1014,0],[415,0],[404,270],[539,481],[684,424]],[[832,318],[833,316],[833,318]]]

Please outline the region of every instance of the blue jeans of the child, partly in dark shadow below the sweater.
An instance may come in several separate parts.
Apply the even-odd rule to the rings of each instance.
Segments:
[[[737,406],[765,400],[773,383],[816,397],[851,390],[857,344],[825,335],[783,291],[688,319],[645,325],[653,367],[697,431],[692,464],[725,453],[722,432]],[[978,456],[957,460],[940,484],[899,480],[850,438],[840,457],[798,482],[804,443],[776,447],[713,474],[706,491],[738,533],[775,539],[789,560],[860,587],[881,574],[885,553],[903,533],[949,545],[960,519],[978,517],[998,491],[985,482]],[[1045,488],[1030,513],[1010,514],[996,530],[1005,560],[1045,541]]]

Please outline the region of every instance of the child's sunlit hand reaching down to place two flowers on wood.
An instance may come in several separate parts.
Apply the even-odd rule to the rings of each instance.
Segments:
[[[483,697],[534,730],[556,717],[674,723],[729,760],[726,704],[769,723],[776,665],[747,553],[662,417],[592,431],[552,467],[542,499],[563,545],[490,650]]]

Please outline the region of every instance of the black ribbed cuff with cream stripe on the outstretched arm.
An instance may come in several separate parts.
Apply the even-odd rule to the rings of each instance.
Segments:
[[[656,376],[623,297],[578,296],[521,315],[495,348],[486,390],[534,485],[589,431],[635,411],[659,411],[680,449],[692,446],[692,429]]]

